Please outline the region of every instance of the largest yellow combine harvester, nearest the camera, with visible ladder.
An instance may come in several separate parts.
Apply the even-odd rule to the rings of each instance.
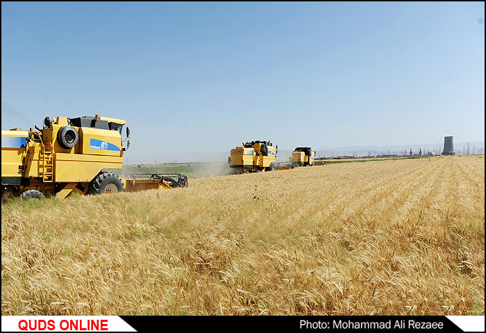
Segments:
[[[124,190],[187,186],[183,174],[133,174],[121,179],[103,169],[121,169],[126,147],[125,120],[109,117],[46,117],[37,131],[1,131],[1,192],[24,199],[71,193],[102,194]]]

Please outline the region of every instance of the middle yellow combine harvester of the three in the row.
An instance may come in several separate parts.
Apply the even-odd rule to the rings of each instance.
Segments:
[[[246,142],[231,149],[228,164],[235,174],[293,168],[292,163],[277,163],[277,152],[278,146],[274,147],[270,141]]]

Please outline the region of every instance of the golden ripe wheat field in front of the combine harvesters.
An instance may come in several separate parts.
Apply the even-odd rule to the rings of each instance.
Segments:
[[[1,206],[3,315],[484,315],[485,159]]]

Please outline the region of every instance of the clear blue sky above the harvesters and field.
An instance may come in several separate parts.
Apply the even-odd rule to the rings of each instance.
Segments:
[[[2,2],[1,128],[119,117],[133,163],[484,141],[484,19],[483,2]]]

